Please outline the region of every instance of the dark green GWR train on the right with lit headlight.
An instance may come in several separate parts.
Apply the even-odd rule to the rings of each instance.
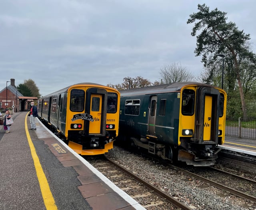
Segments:
[[[120,92],[120,139],[163,159],[210,166],[224,144],[226,92],[180,82]]]

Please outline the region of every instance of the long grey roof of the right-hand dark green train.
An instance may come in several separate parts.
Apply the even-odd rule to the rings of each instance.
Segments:
[[[164,93],[164,92],[179,92],[181,88],[184,86],[204,86],[204,87],[213,87],[209,84],[199,83],[199,82],[175,82],[171,84],[160,84],[155,86],[147,86],[143,88],[132,88],[128,90],[120,91],[121,97],[122,96],[129,96],[132,94],[157,94],[157,93]]]

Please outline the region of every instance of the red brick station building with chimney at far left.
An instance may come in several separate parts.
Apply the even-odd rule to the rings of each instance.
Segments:
[[[26,111],[29,109],[30,102],[34,100],[37,100],[37,97],[23,96],[17,90],[15,79],[6,81],[6,87],[0,91],[0,109],[11,107],[14,112]]]

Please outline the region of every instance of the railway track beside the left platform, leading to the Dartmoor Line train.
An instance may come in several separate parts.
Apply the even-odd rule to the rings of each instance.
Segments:
[[[131,172],[107,157],[104,157],[101,160],[87,161],[148,210],[193,210],[193,208],[190,208],[173,196],[168,195],[162,189],[159,189],[140,178],[140,176],[136,175],[136,172]]]

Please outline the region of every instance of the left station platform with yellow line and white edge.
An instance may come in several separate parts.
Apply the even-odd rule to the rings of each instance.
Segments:
[[[145,209],[27,114],[0,127],[0,209]]]

